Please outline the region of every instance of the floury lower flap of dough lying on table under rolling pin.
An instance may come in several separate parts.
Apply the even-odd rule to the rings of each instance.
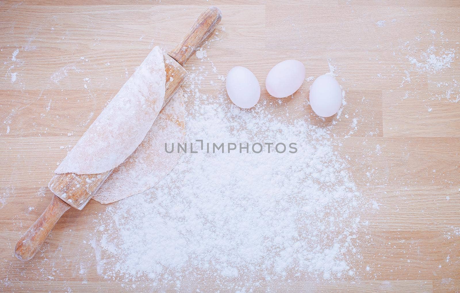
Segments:
[[[182,142],[185,136],[182,89],[161,110],[144,141],[115,168],[93,196],[109,204],[155,186],[178,163],[180,154],[165,152],[165,142]]]

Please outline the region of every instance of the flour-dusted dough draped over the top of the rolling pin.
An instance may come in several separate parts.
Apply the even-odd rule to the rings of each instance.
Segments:
[[[144,140],[165,98],[166,72],[155,47],[92,123],[55,173],[98,174],[123,163]]]

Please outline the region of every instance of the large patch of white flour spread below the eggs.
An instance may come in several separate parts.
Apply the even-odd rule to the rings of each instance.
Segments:
[[[298,152],[183,154],[155,188],[107,208],[98,272],[244,284],[354,275],[363,199],[329,129],[282,121],[263,106],[241,111],[196,88],[186,94],[194,105],[185,141],[296,142]]]

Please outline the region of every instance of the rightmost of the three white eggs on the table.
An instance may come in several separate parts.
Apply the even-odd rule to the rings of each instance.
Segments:
[[[339,82],[328,74],[316,78],[310,88],[310,105],[321,117],[330,117],[337,113],[342,105]]]

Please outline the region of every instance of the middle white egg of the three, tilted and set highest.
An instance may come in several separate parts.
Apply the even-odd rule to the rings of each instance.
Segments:
[[[285,60],[270,70],[265,79],[265,88],[275,98],[285,98],[295,93],[304,80],[304,64],[297,60]]]

